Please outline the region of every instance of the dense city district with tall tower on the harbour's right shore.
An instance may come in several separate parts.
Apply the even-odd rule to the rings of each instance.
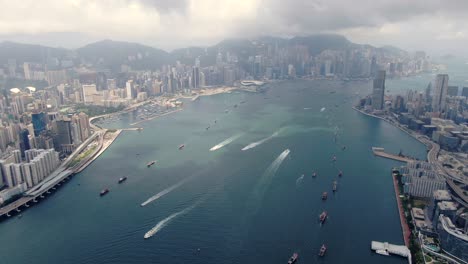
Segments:
[[[407,163],[392,171],[405,244],[417,263],[467,263],[468,87],[460,93],[447,74],[437,74],[424,92],[385,96],[385,78],[380,70],[372,94],[355,109],[393,124],[428,149],[427,161],[421,161],[373,148],[377,156]]]

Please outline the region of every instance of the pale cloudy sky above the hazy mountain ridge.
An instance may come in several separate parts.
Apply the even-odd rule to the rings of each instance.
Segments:
[[[174,48],[339,33],[357,43],[468,53],[467,0],[0,0],[0,40]]]

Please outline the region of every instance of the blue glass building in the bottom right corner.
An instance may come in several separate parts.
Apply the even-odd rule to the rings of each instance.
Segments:
[[[438,225],[439,240],[444,252],[464,262],[468,262],[468,235],[458,229],[450,218],[440,215]]]

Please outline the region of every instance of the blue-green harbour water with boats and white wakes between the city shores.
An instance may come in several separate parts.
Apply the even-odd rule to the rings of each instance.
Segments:
[[[122,132],[60,191],[3,222],[0,262],[286,263],[298,252],[299,263],[405,263],[370,250],[372,240],[403,244],[391,177],[401,163],[372,147],[422,160],[426,147],[352,110],[370,89],[293,80],[187,100]],[[131,112],[103,126],[136,121]]]

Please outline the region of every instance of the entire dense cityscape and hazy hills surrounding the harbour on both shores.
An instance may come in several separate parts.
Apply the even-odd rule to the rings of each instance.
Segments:
[[[409,260],[468,262],[468,87],[438,74],[425,93],[386,96],[385,79],[443,70],[422,51],[376,48],[338,35],[230,39],[170,53],[105,40],[76,50],[0,43],[0,217],[21,216],[90,164],[123,129],[182,109],[184,100],[255,92],[288,79],[373,80],[355,109],[383,119],[428,147],[428,160],[404,153],[392,176]],[[419,88],[419,87],[415,87]],[[132,128],[99,126],[135,111]],[[380,254],[395,253],[375,244]],[[372,245],[374,247],[374,244]]]

